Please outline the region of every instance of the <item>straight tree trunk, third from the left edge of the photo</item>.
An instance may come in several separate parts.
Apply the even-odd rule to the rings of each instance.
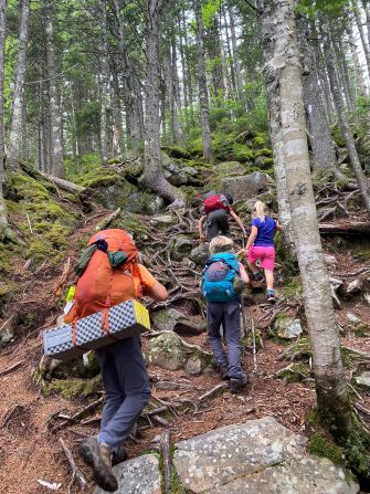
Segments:
[[[46,62],[49,77],[49,104],[51,120],[51,143],[52,143],[52,175],[64,178],[63,144],[62,144],[62,118],[59,107],[56,71],[54,57],[52,7],[49,0],[44,1],[45,36],[46,36]]]

